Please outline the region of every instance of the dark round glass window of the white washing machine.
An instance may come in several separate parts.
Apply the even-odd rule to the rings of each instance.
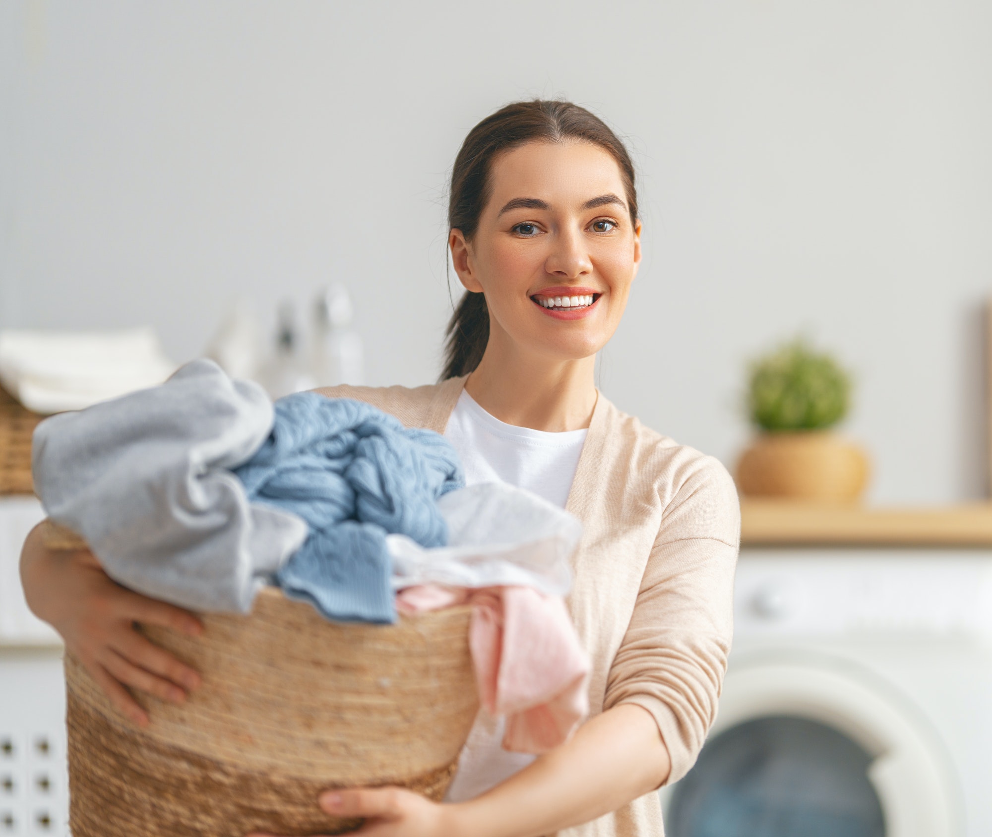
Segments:
[[[679,782],[670,837],[885,837],[871,754],[806,718],[746,721]]]

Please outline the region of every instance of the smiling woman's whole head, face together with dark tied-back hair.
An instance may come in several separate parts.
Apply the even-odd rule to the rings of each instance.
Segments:
[[[641,222],[630,155],[589,111],[517,102],[482,120],[454,162],[448,223],[468,293],[448,325],[445,378],[473,372],[487,347],[498,362],[508,337],[531,342],[514,308],[522,298],[562,321],[595,312],[571,334],[532,324],[531,338],[558,343],[565,357],[594,355],[616,330],[641,261]]]

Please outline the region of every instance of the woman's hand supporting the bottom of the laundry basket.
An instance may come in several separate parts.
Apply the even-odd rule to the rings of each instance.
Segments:
[[[365,817],[360,837],[457,837],[453,805],[442,805],[402,787],[328,790],[320,807],[339,817]],[[272,837],[251,834],[249,837]]]

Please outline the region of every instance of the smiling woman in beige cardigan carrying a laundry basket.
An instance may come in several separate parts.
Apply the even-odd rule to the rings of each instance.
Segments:
[[[716,712],[731,635],[739,511],[714,459],[620,413],[594,385],[641,260],[634,170],[595,116],[561,101],[509,105],[469,133],[451,177],[449,247],[466,289],[435,386],[341,387],[443,432],[468,481],[503,479],[577,515],[568,598],[592,658],[590,719],[536,760],[479,722],[447,804],[400,789],[329,792],[330,813],[376,837],[655,837],[655,791],[682,777]],[[111,582],[86,553],[32,535],[28,601],[122,711],[125,686],[182,701],[198,677],[133,622],[196,633],[191,614]]]

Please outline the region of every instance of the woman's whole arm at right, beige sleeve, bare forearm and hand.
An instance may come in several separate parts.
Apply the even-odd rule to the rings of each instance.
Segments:
[[[538,837],[681,778],[716,712],[733,631],[740,533],[737,494],[726,470],[708,457],[693,465],[668,503],[610,667],[602,714],[469,802],[438,805],[383,788],[330,791],[321,806],[331,814],[368,817],[357,832],[365,837]]]

